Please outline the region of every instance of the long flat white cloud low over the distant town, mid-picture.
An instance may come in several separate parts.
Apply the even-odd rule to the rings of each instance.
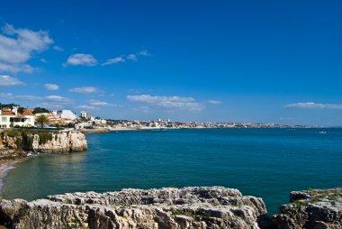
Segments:
[[[199,111],[204,108],[202,103],[194,102],[192,97],[181,96],[127,96],[127,99],[134,102],[145,103],[166,109],[184,109],[191,111]]]

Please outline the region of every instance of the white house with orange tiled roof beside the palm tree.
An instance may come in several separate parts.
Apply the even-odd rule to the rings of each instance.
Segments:
[[[13,110],[10,108],[0,110],[0,128],[34,126],[34,120],[31,109],[25,109],[23,114],[18,113],[17,107],[14,107]]]

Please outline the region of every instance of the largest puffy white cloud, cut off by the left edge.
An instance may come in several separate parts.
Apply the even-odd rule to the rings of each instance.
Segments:
[[[15,29],[5,24],[0,33],[0,70],[3,72],[31,72],[26,64],[36,52],[47,50],[53,41],[45,31]]]

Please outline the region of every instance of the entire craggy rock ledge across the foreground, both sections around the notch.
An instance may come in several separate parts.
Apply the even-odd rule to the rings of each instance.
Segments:
[[[264,201],[222,187],[122,189],[0,201],[0,225],[33,228],[341,229],[342,188],[292,192],[268,217]],[[1,228],[1,226],[0,226]]]

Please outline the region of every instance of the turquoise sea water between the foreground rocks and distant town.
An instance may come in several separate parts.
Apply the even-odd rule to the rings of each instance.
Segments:
[[[224,186],[263,197],[275,213],[292,190],[342,186],[342,129],[183,129],[86,138],[87,152],[15,164],[3,179],[3,197]]]

